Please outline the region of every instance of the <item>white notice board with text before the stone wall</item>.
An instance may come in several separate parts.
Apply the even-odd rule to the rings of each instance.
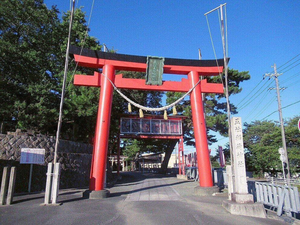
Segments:
[[[20,163],[43,164],[45,149],[43,148],[22,148]]]

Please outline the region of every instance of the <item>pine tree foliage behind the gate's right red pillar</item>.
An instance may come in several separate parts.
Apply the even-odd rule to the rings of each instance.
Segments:
[[[240,82],[249,80],[249,71],[241,71],[228,68],[228,89],[229,95],[237,94],[242,91]],[[221,74],[223,82],[225,80],[224,72]],[[205,77],[208,83],[222,83],[220,76]],[[167,92],[167,103],[172,103],[179,99],[183,93],[181,92]],[[209,135],[210,130],[219,132],[221,135],[228,135],[228,122],[227,122],[227,104],[224,94],[205,94],[205,122],[207,127],[207,138],[209,144],[216,142],[214,135]],[[187,145],[195,146],[193,123],[191,115],[191,102],[189,99],[184,100],[181,104],[176,106],[177,112],[180,115],[188,116],[184,119],[184,141]],[[230,110],[232,114],[237,113],[236,107],[230,104]]]

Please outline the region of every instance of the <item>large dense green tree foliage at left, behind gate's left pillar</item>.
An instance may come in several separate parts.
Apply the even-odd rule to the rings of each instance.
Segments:
[[[86,12],[76,8],[71,44],[100,50],[99,41],[86,35]],[[70,12],[56,6],[48,9],[43,0],[0,2],[0,122],[7,130],[34,129],[55,135],[64,74]],[[110,50],[115,52],[113,48]],[[76,68],[76,70],[75,70]],[[74,72],[75,71],[75,72]],[[69,60],[67,87],[62,116],[62,139],[88,142],[94,135],[99,88],[73,85],[73,74],[93,75],[91,69]],[[121,71],[122,72],[122,71]],[[116,72],[117,73],[117,72]],[[145,73],[122,72],[124,77],[144,78]],[[162,93],[123,90],[137,103],[159,107]],[[137,110],[133,108],[133,112]],[[119,114],[127,103],[114,92],[110,142],[115,141]],[[114,151],[116,152],[116,145]]]

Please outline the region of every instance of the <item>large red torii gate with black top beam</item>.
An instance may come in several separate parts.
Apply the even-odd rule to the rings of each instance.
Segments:
[[[216,62],[216,60],[165,58],[164,73],[187,74],[188,79],[162,81],[162,85],[158,86],[146,85],[143,79],[122,78],[122,74],[115,74],[115,70],[145,72],[147,57],[95,51],[85,48],[81,51],[80,47],[73,45],[70,46],[70,55],[79,66],[103,68],[102,73],[119,89],[188,92],[200,80],[199,76],[219,75],[220,71],[223,71],[224,66],[223,59],[218,59]],[[95,72],[93,76],[78,74],[74,76],[74,85],[101,87],[90,174],[90,191],[104,189],[113,92],[113,87],[106,77],[98,72]],[[212,187],[213,181],[201,93],[223,93],[223,85],[207,83],[206,79],[201,80],[200,84],[195,86],[190,94],[199,184],[201,187]]]

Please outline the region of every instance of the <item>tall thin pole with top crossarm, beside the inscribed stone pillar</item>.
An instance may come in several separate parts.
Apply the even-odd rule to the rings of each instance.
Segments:
[[[222,44],[223,44],[223,56],[224,56],[224,72],[225,72],[225,86],[226,86],[226,101],[227,101],[227,116],[228,116],[228,138],[229,138],[229,152],[230,152],[230,165],[233,169],[233,155],[232,155],[232,140],[230,131],[230,105],[229,105],[229,91],[228,91],[228,76],[227,76],[227,59],[225,53],[225,40],[224,40],[224,21],[223,21],[223,10],[222,4],[220,5],[221,11],[221,27],[222,27]],[[234,174],[234,171],[233,171]]]

